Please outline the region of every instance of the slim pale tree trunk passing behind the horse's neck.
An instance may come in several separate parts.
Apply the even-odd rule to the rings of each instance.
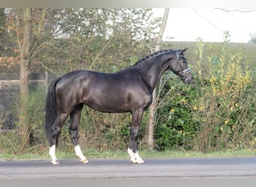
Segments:
[[[159,31],[158,36],[156,37],[156,49],[155,51],[160,50],[160,44],[162,41],[162,35],[165,31],[166,22],[168,19],[169,8],[165,8],[165,13],[162,18],[162,25]],[[156,111],[156,89],[153,90],[153,98],[152,104],[150,105],[150,114],[149,114],[149,122],[148,122],[148,135],[147,135],[147,144],[150,150],[153,150],[154,147],[154,139],[153,139],[153,132],[155,130],[155,111]]]

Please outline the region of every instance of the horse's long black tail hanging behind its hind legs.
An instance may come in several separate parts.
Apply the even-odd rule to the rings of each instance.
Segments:
[[[55,79],[51,82],[48,88],[48,93],[46,96],[46,118],[45,118],[45,128],[46,128],[46,138],[49,141],[50,146],[52,146],[53,138],[52,138],[52,126],[55,122],[57,117],[57,103],[56,103],[56,96],[55,96],[55,87],[60,78]]]

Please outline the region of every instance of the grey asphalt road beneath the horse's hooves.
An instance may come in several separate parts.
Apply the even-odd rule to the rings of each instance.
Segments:
[[[0,179],[256,179],[256,157],[144,159],[143,165],[128,159],[0,161]]]

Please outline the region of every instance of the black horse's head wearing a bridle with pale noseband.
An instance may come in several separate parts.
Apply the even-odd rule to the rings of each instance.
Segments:
[[[187,48],[186,48],[187,49]],[[186,49],[174,50],[174,58],[169,62],[169,67],[186,85],[192,84],[191,70],[188,67],[186,57],[183,52]]]

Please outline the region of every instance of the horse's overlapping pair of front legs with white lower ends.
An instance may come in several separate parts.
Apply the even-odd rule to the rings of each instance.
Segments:
[[[128,153],[132,163],[143,164],[144,160],[138,155],[138,135],[139,126],[143,116],[143,110],[139,109],[132,112],[132,126],[129,135]]]

